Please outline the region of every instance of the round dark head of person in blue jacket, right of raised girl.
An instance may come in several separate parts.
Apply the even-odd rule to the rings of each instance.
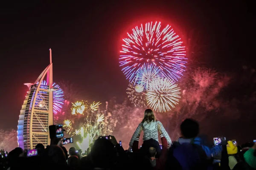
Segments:
[[[195,138],[199,133],[199,124],[193,119],[185,119],[180,125],[180,131],[185,138]]]

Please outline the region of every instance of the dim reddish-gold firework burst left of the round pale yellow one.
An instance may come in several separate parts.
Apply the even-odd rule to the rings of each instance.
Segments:
[[[135,107],[146,108],[147,102],[144,91],[137,92],[137,86],[134,86],[131,83],[128,86],[128,92],[126,93],[128,94],[128,99],[131,101],[131,103],[134,104]]]

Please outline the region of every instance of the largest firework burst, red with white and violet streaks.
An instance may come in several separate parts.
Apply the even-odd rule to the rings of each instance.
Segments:
[[[185,68],[186,50],[171,26],[161,28],[160,22],[146,23],[132,29],[123,39],[120,66],[126,78],[134,82],[137,71],[145,63],[156,65],[164,75],[177,81]]]

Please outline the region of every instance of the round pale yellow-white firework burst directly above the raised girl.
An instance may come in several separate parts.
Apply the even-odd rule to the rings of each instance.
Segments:
[[[180,98],[180,88],[169,79],[155,79],[149,84],[146,93],[148,105],[157,112],[171,111]]]

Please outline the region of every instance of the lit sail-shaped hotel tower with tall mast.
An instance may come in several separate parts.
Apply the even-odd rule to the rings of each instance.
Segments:
[[[34,149],[38,143],[50,144],[49,125],[53,125],[52,51],[50,64],[34,83],[25,83],[29,91],[20,110],[18,121],[18,147]],[[47,85],[41,85],[46,79]]]

